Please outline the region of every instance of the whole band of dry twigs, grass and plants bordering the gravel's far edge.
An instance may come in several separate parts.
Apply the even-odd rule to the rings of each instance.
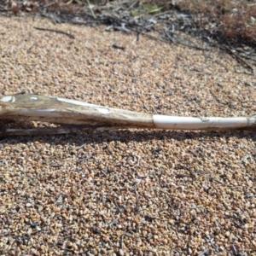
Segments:
[[[9,0],[5,10],[11,10],[15,3]],[[55,23],[104,24],[108,30],[135,32],[137,39],[144,35],[200,50],[219,47],[245,68],[244,71],[234,68],[236,73],[253,74],[252,66],[256,62],[253,49],[256,44],[256,5],[246,0],[54,1],[44,4],[21,1],[19,10],[16,10],[13,10],[15,14],[19,11],[38,13]],[[205,47],[193,43],[191,37],[201,38]]]

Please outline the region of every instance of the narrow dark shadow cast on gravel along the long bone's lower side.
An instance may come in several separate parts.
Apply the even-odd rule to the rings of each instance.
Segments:
[[[249,141],[256,141],[255,131],[88,131],[65,135],[45,135],[27,137],[1,137],[0,143],[49,143],[54,145],[73,144],[77,147],[90,143],[109,143],[109,142],[149,142],[150,140],[170,140],[183,142],[185,140],[218,141],[220,138],[228,140],[235,137],[238,140],[246,138]]]

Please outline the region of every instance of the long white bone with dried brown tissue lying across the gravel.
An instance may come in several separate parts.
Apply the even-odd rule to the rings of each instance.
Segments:
[[[117,108],[97,106],[61,97],[38,95],[4,96],[0,99],[0,119],[16,122],[43,121],[61,128],[0,129],[0,135],[68,133],[88,129],[150,128],[170,130],[218,131],[256,128],[253,117],[177,117],[160,114],[137,113]],[[31,132],[29,132],[31,131]],[[19,133],[20,132],[20,133]]]

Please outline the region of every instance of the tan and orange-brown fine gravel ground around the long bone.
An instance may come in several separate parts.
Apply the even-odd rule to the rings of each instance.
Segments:
[[[256,112],[255,77],[216,49],[36,18],[1,17],[0,29],[3,95],[187,116]],[[256,255],[255,139],[148,130],[2,137],[0,253]]]

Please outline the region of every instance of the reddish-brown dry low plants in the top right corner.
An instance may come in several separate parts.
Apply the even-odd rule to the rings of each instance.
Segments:
[[[177,0],[174,5],[167,0],[149,2],[189,13],[199,29],[211,30],[212,27],[212,35],[224,42],[256,43],[256,4],[251,1]]]

